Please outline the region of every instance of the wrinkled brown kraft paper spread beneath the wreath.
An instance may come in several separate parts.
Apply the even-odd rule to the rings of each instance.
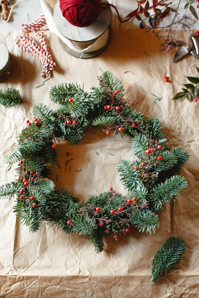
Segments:
[[[186,176],[189,186],[177,201],[166,204],[158,213],[161,225],[155,234],[131,227],[117,242],[111,234],[104,238],[105,250],[101,254],[95,253],[87,236],[66,235],[45,222],[37,233],[29,233],[13,213],[14,200],[1,200],[0,297],[198,297],[199,182],[195,177],[199,179],[199,107],[188,100],[171,99],[181,91],[183,83],[188,83],[185,75],[191,75],[190,67],[199,60],[189,56],[174,64],[174,54],[166,58],[158,50],[160,42],[152,33],[140,29],[114,29],[112,41],[101,55],[78,59],[64,52],[58,37],[48,31],[44,35],[57,66],[50,80],[35,88],[45,80],[41,78],[43,66],[40,60],[18,49],[14,40],[19,34],[19,31],[0,33],[14,64],[13,73],[0,83],[0,88],[16,88],[24,100],[19,107],[0,106],[0,185],[16,179],[16,165],[10,167],[3,159],[12,150],[16,135],[26,127],[26,119],[33,121],[33,106],[45,103],[55,109],[48,94],[52,86],[60,83],[77,82],[81,87],[84,83],[84,90],[90,91],[91,86],[98,86],[101,68],[123,81],[127,97],[132,102],[138,99],[142,113],[160,119],[170,148],[179,146],[188,151],[189,161],[180,174]],[[179,31],[177,38],[186,40],[187,35],[189,32]],[[194,68],[193,75],[197,76]],[[169,83],[163,80],[165,72]],[[162,99],[155,100],[151,93]],[[128,196],[117,164],[125,157],[135,159],[131,139],[127,136],[121,139],[121,133],[107,136],[102,130],[103,127],[90,125],[81,144],[62,142],[56,148],[61,169],[55,165],[49,178],[56,187],[70,190],[83,201],[110,186]],[[152,259],[172,235],[184,239],[185,253],[179,264],[158,282],[151,283]]]

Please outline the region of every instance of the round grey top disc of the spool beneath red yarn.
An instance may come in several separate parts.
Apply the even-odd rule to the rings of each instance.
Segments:
[[[107,0],[102,0],[101,2],[108,3]],[[91,41],[100,37],[109,27],[111,16],[112,13],[110,6],[102,5],[100,15],[90,26],[76,27],[70,24],[67,19],[63,17],[59,1],[57,1],[55,5],[53,13],[55,25],[59,32],[66,38],[77,42]]]

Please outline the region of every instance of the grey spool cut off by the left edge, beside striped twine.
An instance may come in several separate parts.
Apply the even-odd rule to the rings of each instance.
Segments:
[[[0,41],[0,82],[4,81],[9,77],[10,73],[13,70],[13,63],[10,59],[10,54],[8,52],[7,46]]]

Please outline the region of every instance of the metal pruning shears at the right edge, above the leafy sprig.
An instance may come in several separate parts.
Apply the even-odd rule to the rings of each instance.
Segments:
[[[187,43],[185,41],[177,40],[176,44],[181,46],[181,48],[175,53],[173,62],[177,62],[189,53],[199,59],[199,30],[189,35]]]

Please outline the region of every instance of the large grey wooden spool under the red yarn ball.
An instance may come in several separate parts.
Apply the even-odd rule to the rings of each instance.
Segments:
[[[108,3],[107,0],[102,0],[102,3]],[[101,35],[103,35],[108,30],[108,39],[106,45],[102,48],[94,51],[94,52],[87,52],[87,53],[79,53],[73,49],[70,49],[67,44],[65,44],[60,38],[59,42],[63,49],[69,53],[70,55],[77,57],[77,58],[92,58],[100,53],[102,53],[111,41],[111,8],[108,5],[102,5],[101,13],[98,18],[88,27],[76,27],[70,24],[67,19],[65,19],[62,15],[59,1],[57,1],[53,18],[55,21],[55,26],[57,27],[58,31],[67,39],[73,42],[73,44],[77,47],[77,49],[82,48],[82,43],[84,43],[84,48],[92,45]]]

